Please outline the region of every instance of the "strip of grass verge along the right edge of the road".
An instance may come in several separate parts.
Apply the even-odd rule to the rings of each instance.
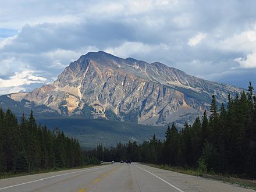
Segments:
[[[256,190],[256,180],[241,179],[239,177],[231,176],[231,175],[218,175],[215,173],[201,173],[197,169],[187,169],[187,168],[183,168],[183,167],[175,167],[175,166],[169,166],[169,165],[155,165],[155,164],[148,164],[148,163],[144,163],[144,164],[148,165],[148,166],[152,166],[154,168],[170,170],[173,172],[183,173],[183,174],[187,174],[187,175],[201,176],[201,177],[205,177],[207,179],[219,180],[219,181],[222,181],[225,183],[236,184],[240,187],[244,187],[247,189]]]

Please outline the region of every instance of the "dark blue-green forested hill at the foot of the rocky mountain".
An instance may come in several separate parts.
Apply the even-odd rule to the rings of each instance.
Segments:
[[[104,147],[116,146],[136,141],[142,143],[152,138],[153,134],[163,140],[167,126],[146,126],[131,122],[119,122],[105,119],[37,119],[38,123],[47,125],[49,129],[59,127],[67,136],[76,137],[82,148],[95,148],[98,144]]]

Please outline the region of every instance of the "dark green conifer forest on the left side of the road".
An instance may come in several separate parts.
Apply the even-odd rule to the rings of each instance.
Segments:
[[[0,175],[82,164],[83,152],[76,139],[37,125],[33,112],[19,122],[10,109],[0,109]]]

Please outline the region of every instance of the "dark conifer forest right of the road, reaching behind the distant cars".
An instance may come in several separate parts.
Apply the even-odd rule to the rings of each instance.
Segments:
[[[228,104],[218,106],[215,96],[209,114],[184,125],[178,131],[173,124],[165,133],[165,140],[153,136],[137,144],[119,143],[116,147],[85,151],[87,157],[103,161],[130,159],[137,162],[168,164],[195,168],[201,172],[236,174],[255,179],[256,164],[256,97],[254,88],[248,93],[228,96]]]

